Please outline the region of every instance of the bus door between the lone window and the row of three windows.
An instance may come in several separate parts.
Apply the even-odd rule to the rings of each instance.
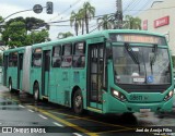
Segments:
[[[50,71],[50,50],[44,50],[43,65],[42,65],[42,96],[45,97],[48,97],[49,71]]]

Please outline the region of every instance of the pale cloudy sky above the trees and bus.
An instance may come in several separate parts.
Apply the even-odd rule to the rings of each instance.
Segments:
[[[3,18],[8,15],[23,11],[32,10],[35,4],[46,7],[48,0],[0,0],[0,16]],[[83,3],[89,1],[91,5],[95,7],[95,16],[110,14],[116,12],[116,0],[49,0],[54,3],[54,13],[47,14],[46,9],[39,14],[33,11],[18,13],[7,18],[5,21],[19,16],[23,17],[37,17],[44,20],[46,23],[67,21],[72,11],[78,12],[83,7]],[[151,7],[154,0],[122,0],[122,12],[125,14],[138,15],[141,10]],[[66,25],[66,26],[61,26]],[[90,22],[90,32],[97,27],[96,20]],[[74,34],[74,28],[70,27],[70,22],[51,23],[49,29],[49,38],[57,39],[59,33],[71,32]],[[81,32],[79,32],[81,34]]]

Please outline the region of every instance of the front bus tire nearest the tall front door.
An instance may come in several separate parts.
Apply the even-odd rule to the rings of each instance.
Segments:
[[[73,111],[77,114],[83,113],[83,96],[80,89],[73,94]]]

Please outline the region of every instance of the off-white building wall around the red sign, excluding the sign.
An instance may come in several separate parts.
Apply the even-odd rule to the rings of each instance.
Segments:
[[[175,55],[175,0],[164,0],[163,2],[155,3],[138,16],[142,22],[148,20],[148,30],[168,34],[168,45],[172,54]],[[164,16],[170,16],[170,24],[154,28],[154,21]]]

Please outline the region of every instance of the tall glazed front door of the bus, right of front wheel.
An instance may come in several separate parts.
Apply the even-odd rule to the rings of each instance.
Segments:
[[[88,107],[102,110],[104,44],[89,46]]]

